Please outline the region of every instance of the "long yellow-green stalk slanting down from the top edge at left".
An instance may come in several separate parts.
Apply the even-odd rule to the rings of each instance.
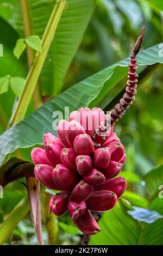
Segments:
[[[15,125],[24,118],[26,111],[30,102],[30,99],[33,95],[36,83],[39,79],[43,63],[45,62],[49,47],[54,38],[55,31],[57,29],[61,14],[65,9],[66,0],[59,1],[55,4],[51,17],[47,23],[45,32],[42,36],[42,52],[36,53],[35,60],[29,70],[26,84],[24,86],[23,92],[18,99],[14,113],[12,114],[10,126]]]

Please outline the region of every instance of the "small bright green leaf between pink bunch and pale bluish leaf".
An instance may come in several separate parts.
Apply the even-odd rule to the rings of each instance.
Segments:
[[[127,199],[132,205],[136,205],[142,208],[146,208],[148,206],[148,200],[146,198],[132,191],[126,190],[122,198]]]

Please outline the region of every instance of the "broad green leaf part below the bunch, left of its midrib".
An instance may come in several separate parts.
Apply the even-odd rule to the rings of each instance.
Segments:
[[[141,227],[120,202],[98,224],[101,231],[91,237],[89,245],[137,245],[139,241]]]

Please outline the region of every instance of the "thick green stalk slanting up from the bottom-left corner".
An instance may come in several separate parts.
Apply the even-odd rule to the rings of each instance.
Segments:
[[[0,226],[0,245],[3,245],[3,243],[7,241],[18,222],[28,214],[29,209],[28,197],[26,196],[15,206]]]

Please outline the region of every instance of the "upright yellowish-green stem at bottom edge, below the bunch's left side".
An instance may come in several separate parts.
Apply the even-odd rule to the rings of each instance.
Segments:
[[[48,244],[49,245],[58,245],[58,217],[54,214],[50,214],[49,212],[49,200],[51,199],[52,195],[47,193],[46,191],[43,194],[44,196],[44,219],[45,225],[48,233]]]

